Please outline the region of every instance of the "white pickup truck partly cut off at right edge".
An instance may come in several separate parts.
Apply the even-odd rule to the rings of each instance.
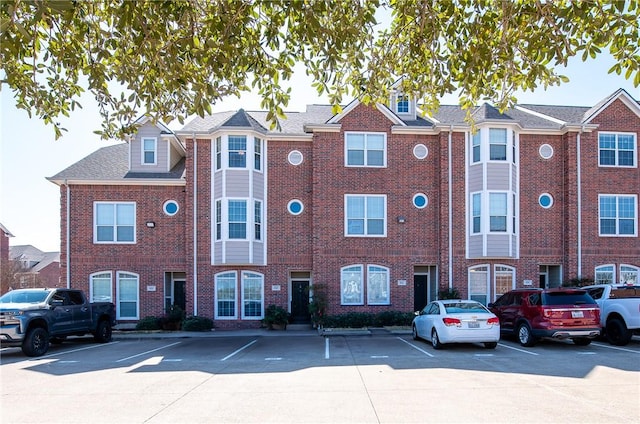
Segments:
[[[600,307],[600,324],[609,343],[624,346],[640,334],[640,286],[596,284],[582,287]]]

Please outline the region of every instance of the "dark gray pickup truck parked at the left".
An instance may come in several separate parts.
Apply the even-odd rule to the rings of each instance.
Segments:
[[[0,343],[27,356],[42,356],[50,342],[67,336],[93,334],[109,342],[115,323],[113,303],[89,303],[81,290],[20,289],[0,297]]]

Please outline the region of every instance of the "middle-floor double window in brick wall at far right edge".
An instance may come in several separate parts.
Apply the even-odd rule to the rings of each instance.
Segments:
[[[638,197],[636,195],[598,196],[601,236],[638,235]]]

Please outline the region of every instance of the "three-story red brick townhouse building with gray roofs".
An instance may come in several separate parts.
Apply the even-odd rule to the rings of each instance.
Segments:
[[[573,278],[638,281],[640,105],[458,106],[422,116],[395,92],[338,115],[312,105],[270,130],[265,112],[147,119],[50,178],[61,194],[67,284],[121,322],[172,304],[218,328],[267,305],[309,319],[412,311],[456,289],[491,302]]]

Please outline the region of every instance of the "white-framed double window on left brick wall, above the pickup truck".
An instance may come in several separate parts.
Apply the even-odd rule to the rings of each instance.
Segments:
[[[136,204],[94,203],[94,243],[135,243]]]

